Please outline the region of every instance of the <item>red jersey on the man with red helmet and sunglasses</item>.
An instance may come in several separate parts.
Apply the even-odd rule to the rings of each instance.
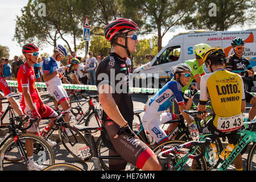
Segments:
[[[21,106],[27,105],[27,102],[22,93],[22,88],[28,88],[28,93],[30,93],[33,103],[39,100],[38,92],[36,92],[35,80],[36,79],[33,67],[30,67],[27,63],[23,64],[22,67],[19,68],[17,76],[18,89],[20,93],[19,102]]]

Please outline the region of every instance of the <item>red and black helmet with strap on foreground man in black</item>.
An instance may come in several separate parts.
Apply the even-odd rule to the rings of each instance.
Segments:
[[[120,18],[104,27],[105,38],[110,42],[110,44],[116,44],[117,46],[125,48],[128,53],[128,57],[130,57],[131,55],[127,47],[127,38],[125,39],[125,46],[115,43],[113,40],[118,38],[118,35],[125,34],[125,36],[127,36],[128,32],[138,29],[139,27],[133,22],[133,20]]]

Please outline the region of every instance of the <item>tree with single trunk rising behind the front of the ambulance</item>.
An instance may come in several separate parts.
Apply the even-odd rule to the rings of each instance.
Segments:
[[[144,24],[143,33],[157,32],[158,51],[162,49],[163,36],[181,24],[183,17],[195,10],[195,0],[123,0],[127,15]],[[136,18],[137,17],[137,18]]]

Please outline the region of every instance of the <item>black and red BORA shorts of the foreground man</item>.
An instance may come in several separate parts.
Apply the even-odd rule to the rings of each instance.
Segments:
[[[110,148],[110,155],[116,154],[122,156],[123,159],[110,159],[109,164],[111,169],[122,170],[125,169],[126,163],[136,165],[138,168],[142,169],[147,159],[152,155],[155,155],[154,152],[144,143],[142,140],[136,139],[134,137],[129,137],[125,134],[119,135],[117,139],[114,139],[114,136],[118,133],[120,127],[112,120],[107,120],[102,123],[102,127],[105,129],[105,133],[108,135],[105,140],[102,137],[102,140],[106,146],[109,146],[108,140],[112,143],[114,147],[114,152]],[[114,161],[114,162],[113,162]],[[118,162],[119,161],[119,162]]]

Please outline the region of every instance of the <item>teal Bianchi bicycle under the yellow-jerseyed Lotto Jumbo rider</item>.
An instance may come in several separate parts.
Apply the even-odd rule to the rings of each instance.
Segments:
[[[200,114],[200,111],[185,111],[185,112],[190,114],[195,119],[197,118],[197,115]],[[214,136],[213,134],[203,134],[203,128],[201,128],[199,125],[199,119],[196,119],[196,121],[197,121],[196,122],[197,127],[199,128],[199,133],[200,133],[199,141],[205,141],[206,138]],[[215,154],[216,152],[212,151],[212,148],[210,146],[205,148],[205,156],[202,157],[204,159],[204,160],[202,160],[202,163],[205,166],[205,168],[201,168],[201,169],[204,169],[204,170],[217,169],[220,171],[225,171],[230,166],[230,164],[233,162],[233,160],[236,159],[237,155],[240,154],[240,152],[243,150],[243,148],[247,144],[253,142],[253,145],[251,146],[249,153],[248,153],[246,169],[248,171],[256,170],[256,166],[255,166],[256,133],[255,133],[255,131],[256,131],[256,121],[248,123],[248,126],[246,129],[238,131],[238,134],[241,135],[241,141],[237,144],[237,147],[234,148],[234,150],[230,153],[228,158],[225,158],[225,160],[222,161],[221,166],[218,168],[216,167],[216,163],[220,163],[220,160],[222,160],[220,158],[218,158],[218,160],[217,160],[217,155],[219,155],[220,153]],[[177,145],[178,143],[176,143],[176,144],[173,143],[173,144]],[[195,148],[195,150],[198,150],[198,149],[199,149],[198,147]],[[175,164],[175,167],[177,170],[182,170],[183,167],[187,165],[186,163],[188,161],[188,155],[191,155],[191,154],[193,155],[195,150],[189,151],[187,155],[179,158],[179,161],[177,161],[177,163]]]

